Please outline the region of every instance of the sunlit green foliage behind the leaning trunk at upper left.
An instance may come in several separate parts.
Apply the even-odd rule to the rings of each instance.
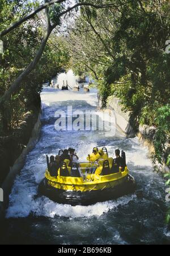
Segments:
[[[9,26],[20,16],[27,14],[39,2],[7,1],[0,5],[0,30]],[[54,10],[56,10],[56,6]],[[0,55],[0,97],[11,83],[28,66],[41,44],[44,28],[38,17],[29,19],[3,37],[4,52]],[[55,44],[53,43],[55,40]],[[57,47],[56,47],[57,46]],[[5,135],[17,127],[28,111],[40,106],[40,92],[43,82],[52,79],[69,62],[68,52],[61,37],[53,34],[48,40],[41,60],[26,79],[21,89],[12,94],[0,109],[0,133]]]

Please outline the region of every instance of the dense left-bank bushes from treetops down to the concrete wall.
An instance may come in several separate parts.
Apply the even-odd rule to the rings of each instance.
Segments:
[[[39,5],[39,1],[2,0],[0,31]],[[55,9],[56,10],[56,9]],[[0,54],[0,98],[36,55],[45,31],[44,11],[3,36]],[[42,84],[61,72],[69,61],[62,38],[52,34],[39,63],[0,108],[0,183],[27,145],[40,112]],[[24,122],[23,122],[24,121]]]

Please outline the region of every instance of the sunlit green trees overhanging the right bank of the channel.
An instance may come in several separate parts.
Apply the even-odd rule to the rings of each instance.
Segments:
[[[114,95],[137,125],[156,127],[155,157],[161,163],[169,143],[170,3],[123,2],[113,0],[119,7],[102,10],[82,7],[68,47],[76,72],[86,70],[96,80],[103,106]]]

